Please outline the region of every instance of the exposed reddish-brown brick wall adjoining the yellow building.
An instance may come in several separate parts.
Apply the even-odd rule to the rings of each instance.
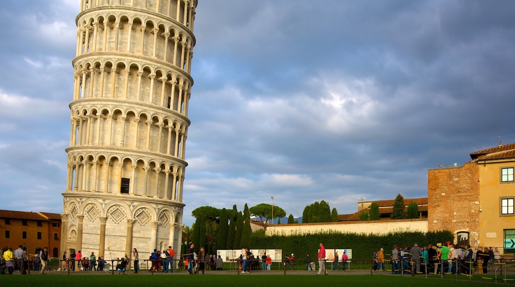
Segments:
[[[479,168],[477,163],[427,171],[427,229],[469,232],[471,245],[479,232]],[[461,241],[459,238],[455,242]]]

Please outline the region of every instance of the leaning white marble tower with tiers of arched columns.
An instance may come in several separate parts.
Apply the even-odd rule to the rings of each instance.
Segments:
[[[81,0],[61,254],[180,254],[196,6]]]

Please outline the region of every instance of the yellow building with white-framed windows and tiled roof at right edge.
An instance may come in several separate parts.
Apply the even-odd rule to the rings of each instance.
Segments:
[[[479,246],[515,253],[515,144],[470,156],[479,169]]]

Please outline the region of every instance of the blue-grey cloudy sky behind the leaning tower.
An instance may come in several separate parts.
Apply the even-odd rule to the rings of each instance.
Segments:
[[[79,0],[0,9],[0,209],[62,212]],[[427,196],[515,142],[515,2],[199,0],[184,223]]]

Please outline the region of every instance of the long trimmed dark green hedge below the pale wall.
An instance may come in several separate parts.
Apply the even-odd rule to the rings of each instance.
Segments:
[[[407,244],[413,246],[417,242],[419,246],[437,244],[445,241],[453,241],[451,231],[437,232],[390,232],[385,235],[341,233],[337,231],[321,232],[307,235],[273,235],[263,236],[262,232],[254,232],[251,236],[251,249],[282,249],[283,255],[295,253],[297,259],[302,260],[307,253],[316,260],[318,243],[324,242],[325,248],[352,249],[353,259],[371,259],[376,249],[383,247],[385,254],[390,254],[393,245]]]

